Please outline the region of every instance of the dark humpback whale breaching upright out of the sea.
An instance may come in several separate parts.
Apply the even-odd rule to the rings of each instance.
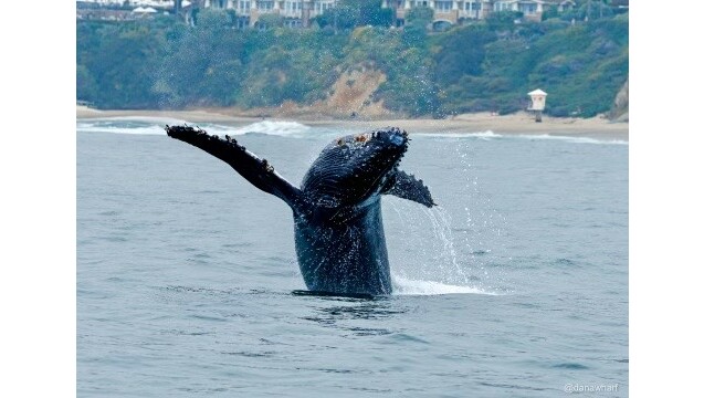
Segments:
[[[188,126],[167,126],[167,134],[225,161],[291,207],[298,265],[312,291],[390,294],[381,195],[435,205],[422,180],[398,169],[409,138],[396,127],[335,139],[311,165],[301,188],[229,136]]]

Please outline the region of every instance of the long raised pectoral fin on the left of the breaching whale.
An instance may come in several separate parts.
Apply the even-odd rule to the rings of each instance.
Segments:
[[[222,139],[189,126],[166,126],[166,133],[171,138],[188,143],[223,160],[253,186],[283,199],[294,210],[303,203],[303,192],[298,188],[274,171],[266,159],[260,159],[234,138],[225,136]]]

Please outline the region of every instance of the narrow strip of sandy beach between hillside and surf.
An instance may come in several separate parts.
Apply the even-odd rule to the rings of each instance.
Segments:
[[[237,112],[235,109],[191,109],[191,111],[97,111],[85,106],[76,106],[76,119],[109,118],[174,118],[189,123],[216,123],[232,127],[242,127],[262,121],[297,122],[308,126],[340,129],[367,130],[383,126],[397,126],[413,133],[453,133],[472,134],[493,132],[500,135],[550,135],[566,137],[588,137],[599,140],[629,140],[628,122],[610,122],[603,117],[571,118],[549,117],[543,115],[543,122],[536,123],[528,113],[511,115],[492,115],[490,113],[472,113],[456,115],[445,119],[402,118],[388,115],[381,118],[339,119],[325,114],[272,114],[267,117],[256,116],[255,112]]]

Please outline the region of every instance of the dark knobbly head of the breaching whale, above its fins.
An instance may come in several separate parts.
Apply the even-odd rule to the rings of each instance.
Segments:
[[[398,127],[337,138],[311,165],[301,189],[321,207],[362,203],[389,182],[408,143]]]

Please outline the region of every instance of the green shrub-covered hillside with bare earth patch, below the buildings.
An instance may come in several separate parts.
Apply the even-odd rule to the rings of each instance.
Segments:
[[[439,33],[422,12],[403,29],[381,17],[336,28],[321,18],[312,29],[272,20],[265,31],[232,29],[231,13],[211,10],[195,27],[168,17],[77,21],[76,95],[98,108],[294,103],[442,117],[524,109],[539,87],[549,115],[590,117],[609,112],[628,80],[628,13],[576,24],[495,13]]]

